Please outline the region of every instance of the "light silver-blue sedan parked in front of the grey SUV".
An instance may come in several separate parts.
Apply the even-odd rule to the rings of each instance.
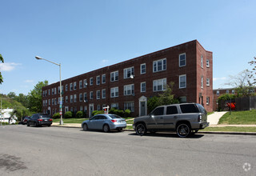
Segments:
[[[110,130],[121,131],[126,128],[126,120],[116,114],[97,114],[94,117],[82,122],[83,130]]]

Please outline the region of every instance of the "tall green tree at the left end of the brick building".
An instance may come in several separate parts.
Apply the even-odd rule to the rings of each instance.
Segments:
[[[38,113],[42,111],[42,87],[47,86],[48,81],[38,82],[34,90],[28,94],[28,107],[31,112]]]

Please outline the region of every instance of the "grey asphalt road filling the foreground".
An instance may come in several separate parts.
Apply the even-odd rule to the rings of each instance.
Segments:
[[[256,136],[0,126],[0,175],[135,174],[255,176]]]

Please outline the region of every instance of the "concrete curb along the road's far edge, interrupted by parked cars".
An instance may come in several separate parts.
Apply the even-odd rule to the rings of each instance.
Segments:
[[[52,125],[53,126],[53,125]],[[60,128],[80,128],[81,126],[53,126],[53,127],[60,127]],[[131,131],[135,132],[133,129],[123,129],[124,131]],[[199,131],[197,134],[234,134],[234,135],[256,135],[256,132],[234,132],[234,131]]]

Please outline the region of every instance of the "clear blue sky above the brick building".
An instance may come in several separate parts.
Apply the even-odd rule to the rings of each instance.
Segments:
[[[256,1],[1,0],[0,94],[62,79],[197,39],[214,53],[214,89],[250,69]]]

